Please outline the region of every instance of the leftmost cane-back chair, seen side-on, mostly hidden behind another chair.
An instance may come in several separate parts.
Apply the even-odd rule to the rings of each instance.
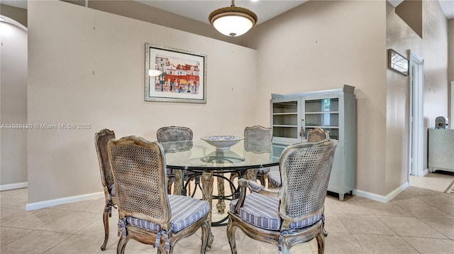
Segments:
[[[114,131],[106,128],[94,134],[94,144],[98,155],[99,171],[101,172],[101,183],[104,187],[104,197],[106,199],[103,214],[104,243],[101,245],[101,250],[106,249],[107,241],[109,241],[109,217],[112,216],[112,206],[116,208],[114,177],[112,176],[109,155],[107,153],[107,142],[114,138]]]

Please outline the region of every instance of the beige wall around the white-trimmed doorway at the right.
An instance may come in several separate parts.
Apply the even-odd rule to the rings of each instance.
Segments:
[[[424,155],[423,170],[427,169],[427,129],[435,126],[436,116],[448,116],[448,37],[447,20],[436,1],[423,1],[423,38],[420,38],[388,4],[387,48],[408,57],[412,50],[424,60]],[[409,79],[387,70],[387,190],[406,178],[408,167]]]

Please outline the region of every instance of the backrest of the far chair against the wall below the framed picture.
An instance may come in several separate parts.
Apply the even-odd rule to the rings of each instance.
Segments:
[[[157,142],[174,142],[174,141],[191,141],[192,130],[182,126],[166,126],[159,128],[156,131]],[[192,142],[179,143],[179,144],[165,144],[164,150],[166,153],[181,152],[184,150],[190,150],[192,148]]]

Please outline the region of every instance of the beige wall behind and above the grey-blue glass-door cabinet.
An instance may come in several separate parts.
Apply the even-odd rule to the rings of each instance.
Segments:
[[[258,106],[271,93],[356,87],[357,189],[384,195],[386,21],[384,1],[309,1],[245,35],[258,50]],[[270,121],[268,111],[258,112]]]

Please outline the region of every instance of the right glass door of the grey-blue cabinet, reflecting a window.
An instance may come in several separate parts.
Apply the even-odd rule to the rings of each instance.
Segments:
[[[304,127],[323,128],[330,138],[339,139],[339,99],[313,99],[304,101]]]

